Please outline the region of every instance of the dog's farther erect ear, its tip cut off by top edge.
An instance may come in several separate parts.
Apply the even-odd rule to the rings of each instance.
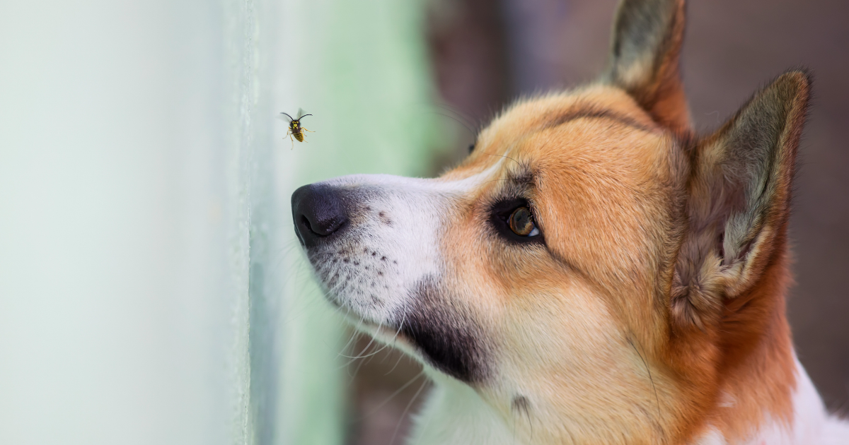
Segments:
[[[678,132],[691,127],[678,70],[684,21],[684,0],[623,0],[602,75],[631,94],[656,122]]]

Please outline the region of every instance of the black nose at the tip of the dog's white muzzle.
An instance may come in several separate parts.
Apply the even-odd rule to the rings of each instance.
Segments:
[[[295,232],[306,247],[333,235],[348,222],[339,193],[329,186],[302,186],[292,193]]]

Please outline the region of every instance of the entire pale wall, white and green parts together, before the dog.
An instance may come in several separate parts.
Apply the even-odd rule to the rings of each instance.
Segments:
[[[289,196],[427,169],[422,19],[0,3],[0,443],[341,442],[347,338]],[[291,150],[277,116],[301,106],[317,132]]]

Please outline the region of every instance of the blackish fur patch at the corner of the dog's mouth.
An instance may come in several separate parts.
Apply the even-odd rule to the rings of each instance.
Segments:
[[[424,359],[458,380],[485,380],[489,370],[481,327],[444,297],[432,277],[419,281],[410,297],[401,332]]]

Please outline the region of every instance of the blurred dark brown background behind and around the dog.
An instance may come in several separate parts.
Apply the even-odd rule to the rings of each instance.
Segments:
[[[604,67],[616,0],[432,0],[431,67],[461,159],[473,131],[514,97],[590,81]],[[797,353],[829,409],[849,407],[849,2],[691,0],[683,76],[694,121],[711,131],[784,70],[815,75],[790,236]],[[467,128],[469,130],[467,130]],[[368,346],[360,339],[359,353]],[[374,349],[371,347],[370,349]],[[351,364],[351,444],[401,443],[427,383],[389,349]],[[418,397],[416,397],[418,395]],[[413,400],[415,398],[415,400]]]

